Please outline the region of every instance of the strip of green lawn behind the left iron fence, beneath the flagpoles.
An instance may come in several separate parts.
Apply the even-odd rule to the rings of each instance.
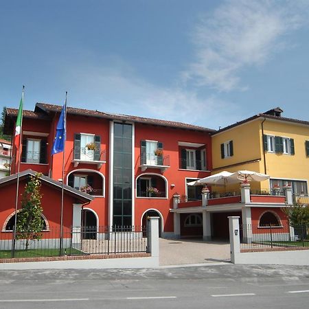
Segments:
[[[63,249],[67,255],[80,255],[82,251],[73,248]],[[45,258],[51,256],[59,256],[59,249],[29,249],[29,250],[15,250],[14,258]],[[12,251],[1,250],[0,259],[12,258]]]

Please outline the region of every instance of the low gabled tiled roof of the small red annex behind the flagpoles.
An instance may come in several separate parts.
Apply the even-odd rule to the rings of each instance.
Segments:
[[[35,176],[37,172],[35,172],[34,170],[24,170],[23,172],[19,173],[19,179],[25,179],[29,176]],[[6,176],[0,179],[0,186],[1,185],[6,185],[8,183],[10,183],[11,181],[15,181],[17,179],[17,174],[12,174],[10,176]],[[56,187],[56,189],[61,190],[62,189],[62,183],[60,183],[60,181],[55,181],[54,179],[42,175],[41,176],[41,181],[44,181],[45,183],[48,183],[49,185],[52,185],[54,187]],[[81,192],[80,190],[76,190],[73,187],[70,187],[69,185],[65,185],[63,184],[63,189],[64,192],[73,196],[76,196],[76,198],[80,199],[80,201],[82,202],[91,202],[93,201],[93,196]]]

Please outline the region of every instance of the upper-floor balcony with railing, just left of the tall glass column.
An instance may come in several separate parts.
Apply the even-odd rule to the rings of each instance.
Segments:
[[[96,164],[98,168],[106,163],[106,150],[90,150],[87,147],[76,147],[71,150],[73,154],[72,163],[74,168],[80,163]]]

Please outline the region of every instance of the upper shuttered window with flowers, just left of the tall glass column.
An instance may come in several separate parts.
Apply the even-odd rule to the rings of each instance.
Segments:
[[[101,137],[94,134],[74,135],[74,159],[82,161],[100,161]]]

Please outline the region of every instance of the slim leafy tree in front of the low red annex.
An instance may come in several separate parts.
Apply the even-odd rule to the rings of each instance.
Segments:
[[[23,198],[21,200],[21,211],[17,216],[16,239],[25,240],[25,249],[30,243],[42,238],[43,218],[41,207],[41,173],[30,176],[30,181],[25,185]]]

